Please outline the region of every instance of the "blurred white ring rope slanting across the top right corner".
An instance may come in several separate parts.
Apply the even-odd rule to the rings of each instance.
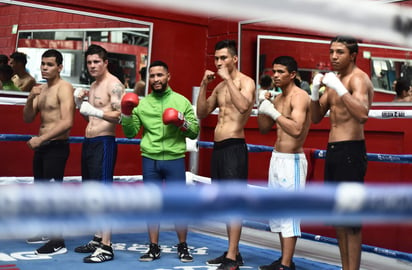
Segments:
[[[376,0],[103,0],[120,5],[174,9],[206,16],[262,19],[267,23],[328,34],[347,34],[412,45],[412,8]],[[291,20],[290,18],[293,18]]]

